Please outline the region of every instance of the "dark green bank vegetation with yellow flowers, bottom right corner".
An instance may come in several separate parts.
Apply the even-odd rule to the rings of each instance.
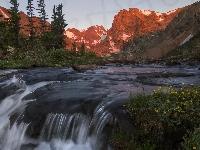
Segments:
[[[200,149],[200,86],[137,94],[124,110],[137,133],[115,129],[111,144],[117,150]]]

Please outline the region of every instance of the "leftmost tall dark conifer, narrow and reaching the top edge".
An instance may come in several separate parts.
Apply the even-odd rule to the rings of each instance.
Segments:
[[[15,48],[19,48],[19,31],[20,31],[20,15],[18,6],[19,3],[17,0],[10,0],[10,19],[8,21],[8,32],[9,32],[9,42],[10,45],[14,46]]]

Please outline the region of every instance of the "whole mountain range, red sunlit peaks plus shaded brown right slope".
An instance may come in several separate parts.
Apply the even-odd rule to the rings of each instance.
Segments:
[[[113,19],[112,27],[91,26],[84,30],[68,28],[65,31],[67,49],[72,43],[79,47],[83,42],[86,51],[97,55],[117,53],[118,59],[158,59],[194,36],[199,30],[198,16],[200,2],[178,8],[167,13],[130,8],[120,10]],[[9,18],[8,9],[0,7],[2,18]],[[20,12],[21,33],[28,35],[27,15]],[[34,25],[40,26],[34,17]],[[49,23],[47,23],[50,25]]]

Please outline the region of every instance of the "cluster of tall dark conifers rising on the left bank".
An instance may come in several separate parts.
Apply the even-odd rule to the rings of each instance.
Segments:
[[[1,25],[1,48],[6,51],[8,46],[12,46],[15,49],[24,49],[24,50],[34,50],[36,43],[40,42],[41,45],[45,47],[46,50],[52,48],[59,49],[65,48],[65,37],[63,35],[65,27],[64,14],[62,13],[63,5],[59,4],[54,5],[53,15],[51,24],[47,24],[48,15],[45,11],[44,0],[37,1],[37,9],[33,6],[33,0],[27,1],[27,16],[28,24],[24,27],[20,25],[20,14],[19,14],[19,3],[17,0],[10,0],[10,18],[6,18],[0,23]],[[39,25],[35,26],[35,9],[39,14]],[[20,30],[25,28],[25,32],[28,33],[28,36],[20,34]]]

